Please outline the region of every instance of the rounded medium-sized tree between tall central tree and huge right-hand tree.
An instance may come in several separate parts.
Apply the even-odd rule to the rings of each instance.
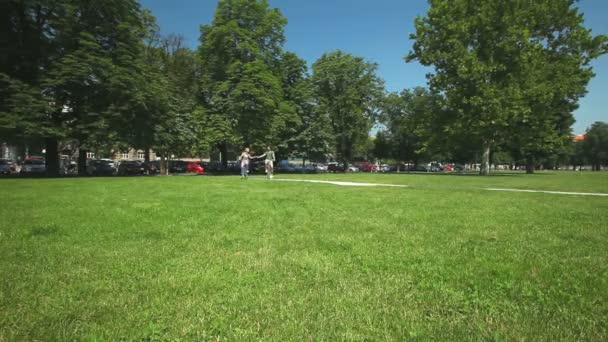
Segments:
[[[377,116],[383,82],[376,69],[376,64],[342,51],[325,53],[313,64],[316,102],[329,118],[336,153],[345,168],[354,147],[368,138]]]

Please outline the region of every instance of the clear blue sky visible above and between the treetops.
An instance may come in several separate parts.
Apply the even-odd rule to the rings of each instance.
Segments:
[[[198,45],[201,24],[213,19],[217,0],[140,0],[158,19],[163,33],[181,34]],[[308,61],[341,49],[378,63],[386,89],[425,86],[428,68],[403,57],[412,42],[414,18],[424,15],[426,0],[270,0],[287,18],[285,49]],[[608,34],[608,1],[581,0],[587,27]],[[593,63],[597,76],[575,112],[574,133],[584,133],[595,121],[608,121],[608,55]]]

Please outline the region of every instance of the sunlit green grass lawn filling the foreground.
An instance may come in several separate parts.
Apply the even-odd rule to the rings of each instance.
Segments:
[[[608,339],[608,173],[0,179],[0,341]]]

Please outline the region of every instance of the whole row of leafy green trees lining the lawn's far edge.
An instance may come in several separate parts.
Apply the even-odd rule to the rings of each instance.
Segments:
[[[0,137],[40,141],[58,173],[60,142],[201,155],[277,146],[345,162],[380,123],[377,157],[471,161],[492,151],[567,150],[572,111],[605,53],[572,0],[433,0],[407,60],[429,88],[386,94],[374,63],[342,51],[312,65],[285,51],[286,18],[267,0],[220,0],[192,50],[161,36],[136,0],[1,2]],[[4,44],[4,43],[3,43]],[[225,160],[224,160],[225,161]]]

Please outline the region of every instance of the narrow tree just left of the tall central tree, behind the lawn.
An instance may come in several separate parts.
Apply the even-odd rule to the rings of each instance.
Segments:
[[[205,136],[205,113],[196,99],[196,54],[183,46],[181,36],[159,37],[157,43],[146,48],[142,84],[129,117],[137,127],[133,127],[129,142],[154,149],[160,156],[161,174],[167,174],[171,155],[200,154],[200,149],[207,147],[199,138]]]

